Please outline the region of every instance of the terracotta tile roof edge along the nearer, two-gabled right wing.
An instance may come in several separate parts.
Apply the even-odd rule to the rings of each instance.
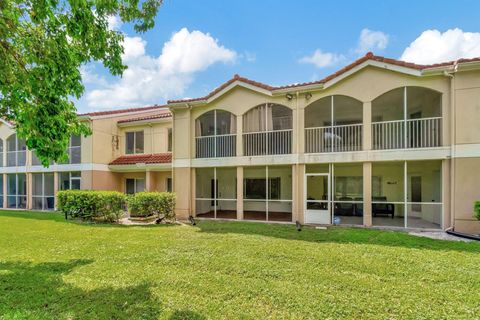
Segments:
[[[385,58],[382,56],[376,56],[372,52],[368,52],[365,56],[357,59],[356,61],[352,62],[351,64],[347,65],[346,67],[336,71],[335,73],[332,73],[331,75],[328,75],[327,77],[318,80],[318,81],[312,81],[312,82],[304,82],[304,83],[295,83],[295,84],[290,84],[290,85],[284,85],[284,86],[270,86],[261,82],[253,81],[244,77],[239,76],[236,74],[232,79],[228,80],[224,84],[222,84],[220,87],[216,88],[212,92],[210,92],[208,95],[200,98],[195,98],[195,99],[184,99],[184,100],[169,100],[168,103],[188,103],[188,102],[194,102],[194,101],[201,101],[201,100],[207,100],[208,98],[214,96],[224,88],[228,87],[230,84],[232,84],[235,81],[242,81],[244,83],[251,84],[253,86],[266,89],[269,91],[275,91],[275,90],[280,90],[280,89],[288,89],[288,88],[296,88],[296,87],[302,87],[302,86],[307,86],[307,85],[315,85],[315,84],[324,84],[342,74],[345,72],[355,68],[356,66],[364,63],[365,61],[372,60],[372,61],[378,61],[378,62],[384,62],[396,66],[401,66],[405,68],[410,68],[410,69],[415,69],[415,70],[426,70],[426,69],[433,69],[433,68],[439,68],[439,67],[447,67],[447,66],[453,66],[455,63],[468,63],[468,62],[476,62],[480,61],[480,57],[478,58],[472,58],[472,59],[459,59],[457,61],[448,61],[448,62],[442,62],[442,63],[436,63],[436,64],[430,64],[430,65],[422,65],[422,64],[415,64],[411,62],[406,62],[406,61],[401,61],[401,60],[396,60],[396,59],[390,59],[390,58]]]

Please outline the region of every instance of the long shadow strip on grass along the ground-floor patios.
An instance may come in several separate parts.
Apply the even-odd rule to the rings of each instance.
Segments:
[[[401,231],[344,227],[330,227],[327,230],[317,230],[313,227],[306,226],[302,228],[302,231],[297,231],[295,225],[206,220],[198,221],[197,227],[201,232],[217,234],[236,233],[315,243],[355,243],[411,249],[480,253],[480,245],[476,242],[466,243],[460,241],[434,240],[412,236]]]

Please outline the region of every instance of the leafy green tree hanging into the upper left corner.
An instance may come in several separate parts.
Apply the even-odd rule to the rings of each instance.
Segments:
[[[90,129],[73,98],[85,90],[80,67],[101,62],[122,75],[123,34],[109,17],[154,26],[162,0],[0,0],[0,117],[15,123],[19,137],[43,165],[66,158],[72,134]]]

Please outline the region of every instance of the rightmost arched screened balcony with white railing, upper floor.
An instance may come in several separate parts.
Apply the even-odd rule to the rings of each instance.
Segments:
[[[431,148],[442,145],[442,95],[402,87],[372,101],[373,149]]]

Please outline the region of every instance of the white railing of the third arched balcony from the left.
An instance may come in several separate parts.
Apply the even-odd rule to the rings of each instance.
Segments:
[[[345,152],[362,150],[362,124],[305,129],[305,152]]]

